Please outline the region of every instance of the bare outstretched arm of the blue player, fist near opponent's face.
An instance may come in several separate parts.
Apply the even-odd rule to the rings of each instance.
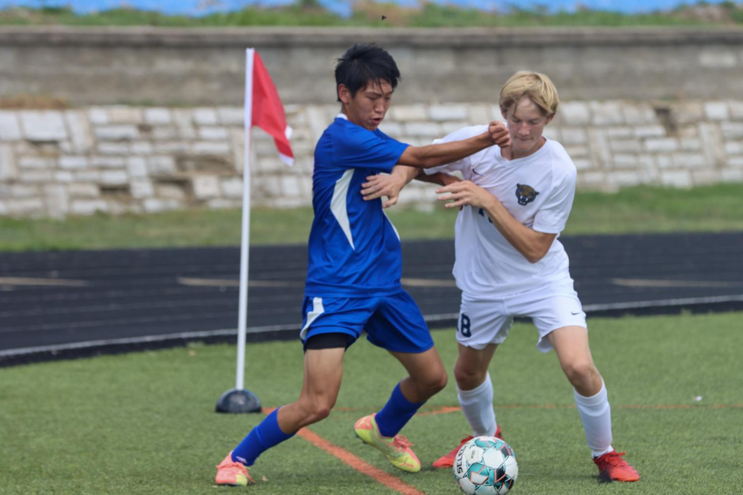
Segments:
[[[472,155],[489,146],[497,144],[502,148],[510,146],[510,135],[504,123],[493,120],[487,132],[472,138],[449,143],[428,144],[426,146],[408,146],[400,156],[400,165],[429,169],[432,166],[450,164]]]

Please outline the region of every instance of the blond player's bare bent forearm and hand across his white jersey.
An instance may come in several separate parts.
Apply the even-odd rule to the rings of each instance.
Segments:
[[[542,259],[554,242],[557,234],[537,232],[516,220],[494,195],[470,181],[461,181],[436,190],[439,201],[450,201],[447,208],[470,205],[487,212],[490,221],[506,240],[530,263]],[[449,193],[449,194],[446,194]]]

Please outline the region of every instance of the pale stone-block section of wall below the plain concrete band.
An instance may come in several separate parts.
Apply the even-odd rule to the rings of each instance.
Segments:
[[[273,140],[253,130],[254,206],[311,204],[312,150],[338,107],[286,111],[296,163],[282,164]],[[381,129],[426,144],[498,117],[491,103],[395,103]],[[743,181],[743,100],[565,101],[545,135],[568,150],[584,189]],[[0,215],[239,207],[242,164],[240,106],[0,111]],[[403,203],[433,207],[432,189],[415,184]]]

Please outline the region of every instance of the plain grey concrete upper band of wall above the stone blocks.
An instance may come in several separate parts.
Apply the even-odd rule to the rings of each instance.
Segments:
[[[0,95],[75,105],[240,105],[256,47],[285,103],[332,103],[334,59],[388,48],[398,103],[493,101],[504,80],[549,74],[565,100],[743,99],[739,28],[0,28]]]

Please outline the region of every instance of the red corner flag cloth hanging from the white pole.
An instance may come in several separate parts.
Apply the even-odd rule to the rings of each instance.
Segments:
[[[253,51],[253,54],[253,126],[259,126],[273,137],[279,157],[291,166],[294,163],[294,154],[289,144],[291,127],[286,125],[284,106],[261,57],[257,51]]]

